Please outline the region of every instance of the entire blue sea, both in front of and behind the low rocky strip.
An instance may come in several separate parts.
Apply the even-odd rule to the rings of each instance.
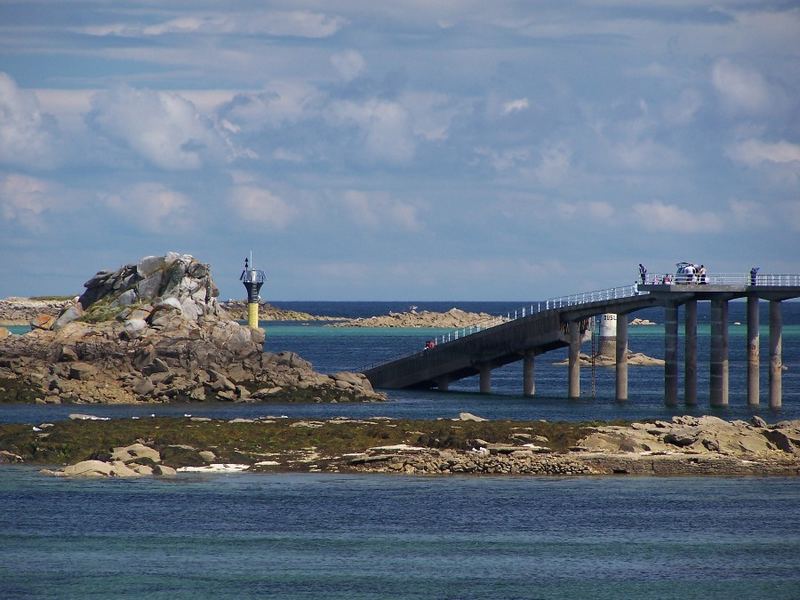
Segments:
[[[276,303],[331,316],[410,305],[505,314],[521,303]],[[590,420],[711,413],[800,418],[800,303],[783,307],[784,405],[766,406],[768,320],[762,312],[762,405],[746,407],[745,305],[730,306],[730,406],[708,408],[708,312],[699,306],[699,406],[663,406],[663,368],[631,367],[630,400],[614,371],[582,371],[566,400],[564,351],[537,357],[534,398],[521,367],[448,393],[390,391],[382,404],[4,406],[31,424],[70,412],[114,417],[194,414]],[[663,357],[659,323],[630,328],[633,351]],[[736,322],[741,325],[735,325]],[[324,372],[420,349],[441,330],[264,323],[268,351],[291,350]],[[584,347],[588,351],[590,345]],[[594,385],[593,383],[594,382]],[[800,598],[797,478],[402,477],[181,474],[170,481],[68,481],[0,466],[0,598]]]

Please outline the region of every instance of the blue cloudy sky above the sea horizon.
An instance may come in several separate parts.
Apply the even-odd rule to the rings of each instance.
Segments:
[[[800,4],[0,0],[0,297],[251,250],[266,300],[800,273]]]

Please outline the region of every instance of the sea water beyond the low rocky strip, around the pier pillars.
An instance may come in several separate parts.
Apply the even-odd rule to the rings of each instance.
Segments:
[[[303,310],[328,316],[371,316],[386,314],[389,310],[405,310],[412,303],[380,302],[289,302],[276,303],[286,308]],[[520,303],[417,303],[419,310],[447,310],[458,306],[465,310],[505,314],[513,312]],[[43,420],[67,418],[70,412],[87,412],[101,416],[203,415],[220,418],[287,415],[302,418],[330,416],[390,416],[398,418],[432,419],[450,418],[468,411],[493,419],[646,419],[669,418],[675,414],[714,414],[725,419],[749,419],[754,414],[768,421],[800,418],[800,302],[783,305],[783,407],[773,411],[768,406],[769,327],[767,303],[761,303],[761,405],[756,409],[747,406],[746,397],[746,305],[730,303],[729,372],[730,404],[727,408],[709,407],[709,342],[710,325],[708,303],[698,305],[698,405],[687,408],[679,398],[675,408],[664,406],[663,367],[629,368],[629,400],[615,401],[615,373],[613,367],[581,369],[580,400],[567,400],[567,370],[553,363],[567,356],[566,349],[536,357],[536,396],[526,398],[522,391],[521,362],[506,365],[492,372],[492,394],[478,391],[478,378],[467,378],[451,384],[447,393],[436,390],[388,390],[389,402],[383,404],[353,405],[295,405],[295,404],[190,404],[147,406],[32,406],[0,405],[0,422],[39,423]],[[629,346],[635,352],[663,358],[663,311],[648,309],[635,316],[649,318],[658,323],[648,327],[629,328]],[[681,313],[682,318],[682,313]],[[736,323],[740,323],[737,325]],[[378,361],[389,360],[402,354],[418,351],[425,341],[441,335],[441,329],[371,329],[327,327],[319,323],[269,323],[262,322],[267,332],[265,349],[271,352],[294,351],[311,361],[322,372],[359,370]],[[682,336],[682,326],[679,328]],[[683,375],[682,338],[679,340],[680,377]],[[585,343],[584,352],[591,350]],[[683,381],[679,381],[679,395]]]

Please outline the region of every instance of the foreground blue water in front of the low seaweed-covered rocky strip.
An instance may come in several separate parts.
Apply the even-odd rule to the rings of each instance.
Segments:
[[[797,479],[0,470],[3,598],[800,597]]]

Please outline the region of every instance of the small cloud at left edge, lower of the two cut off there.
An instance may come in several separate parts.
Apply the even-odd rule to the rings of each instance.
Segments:
[[[52,186],[25,175],[0,177],[0,216],[31,231],[44,229],[43,216],[60,205]]]

